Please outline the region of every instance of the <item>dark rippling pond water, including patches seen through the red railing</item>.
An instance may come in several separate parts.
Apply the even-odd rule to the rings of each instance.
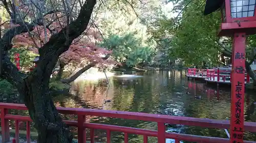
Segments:
[[[228,120],[230,117],[230,87],[191,81],[185,71],[149,71],[137,73],[141,77],[110,77],[72,84],[71,94],[54,98],[56,106],[146,112],[170,116]],[[196,98],[195,98],[196,97]],[[104,102],[110,100],[111,102]],[[256,122],[256,96],[245,96],[245,121]],[[15,114],[27,115],[24,111]],[[62,116],[75,120],[75,116]],[[88,117],[87,122],[157,130],[157,123],[113,118]],[[167,125],[168,132],[227,138],[223,129],[183,125]],[[73,129],[76,130],[75,128]],[[105,142],[105,131],[95,130],[96,141]],[[90,135],[88,134],[88,137]],[[245,140],[256,140],[256,134],[245,132]],[[150,137],[149,142],[157,142]],[[123,134],[112,132],[112,142],[123,142]],[[129,135],[129,142],[143,142],[143,136]],[[174,142],[166,139],[166,142]],[[183,141],[184,142],[184,141]]]

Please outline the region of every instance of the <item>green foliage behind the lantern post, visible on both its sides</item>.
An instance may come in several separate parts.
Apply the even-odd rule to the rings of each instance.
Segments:
[[[183,59],[187,66],[200,67],[216,64],[224,49],[231,50],[231,38],[217,37],[221,23],[219,11],[204,16],[204,0],[182,2],[170,0],[170,2],[175,4],[174,12],[180,13],[175,19],[163,19],[160,22],[162,29],[172,35],[169,43],[171,48],[168,49],[170,57]],[[167,26],[169,28],[166,28]],[[255,40],[255,36],[247,38],[247,58],[254,54],[252,47],[256,46]]]

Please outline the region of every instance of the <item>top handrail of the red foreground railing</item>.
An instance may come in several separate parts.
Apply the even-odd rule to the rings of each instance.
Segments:
[[[28,110],[24,104],[16,104],[16,103],[0,103],[0,108]],[[129,120],[152,121],[152,122],[158,122],[158,123],[200,126],[200,127],[206,127],[206,128],[226,129],[226,128],[229,128],[230,126],[229,120],[167,116],[167,115],[157,115],[157,114],[143,113],[143,112],[101,110],[101,109],[87,109],[87,108],[68,108],[68,107],[57,107],[57,110],[59,111],[59,113],[81,115],[81,116],[86,115],[86,116],[97,116],[97,117],[112,117],[112,118],[129,119]],[[14,117],[15,115],[6,115],[6,116]],[[25,116],[19,116],[19,118],[22,118],[22,117],[24,118]],[[244,128],[246,131],[256,132],[256,122],[245,122]]]

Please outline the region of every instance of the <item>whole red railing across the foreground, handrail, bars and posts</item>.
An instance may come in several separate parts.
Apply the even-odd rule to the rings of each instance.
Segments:
[[[16,110],[27,110],[24,104],[13,104],[13,103],[0,103],[1,108],[1,126],[2,126],[2,142],[10,140],[9,131],[9,120],[15,121],[15,139],[16,142],[19,141],[19,122],[27,122],[27,142],[30,142],[30,123],[32,120],[28,116],[18,116],[8,114],[8,109]],[[138,134],[143,135],[143,142],[147,142],[148,136],[153,136],[158,138],[158,143],[165,143],[166,138],[175,139],[175,143],[182,141],[193,141],[193,142],[204,142],[204,143],[229,143],[228,138],[219,137],[207,137],[189,134],[179,134],[170,133],[165,131],[165,124],[180,124],[187,126],[199,126],[205,128],[219,128],[228,129],[229,121],[226,120],[211,120],[211,119],[200,119],[200,118],[189,118],[189,117],[179,117],[179,116],[166,116],[166,115],[156,115],[150,113],[141,112],[127,112],[127,111],[116,111],[116,110],[99,110],[99,109],[86,109],[86,108],[65,108],[58,107],[59,113],[66,115],[77,115],[77,121],[65,121],[69,126],[78,128],[78,142],[86,142],[86,128],[90,129],[90,140],[93,143],[94,129],[102,129],[106,131],[106,142],[111,142],[111,132],[118,131],[124,133],[124,142],[127,143],[129,138],[128,134]],[[139,128],[130,128],[114,125],[104,125],[95,123],[86,123],[86,116],[97,116],[97,117],[111,117],[120,118],[127,120],[142,120],[142,121],[152,121],[157,122],[157,130],[147,130]],[[244,129],[246,131],[256,132],[256,123],[245,122]],[[244,141],[245,143],[255,143],[254,141]]]

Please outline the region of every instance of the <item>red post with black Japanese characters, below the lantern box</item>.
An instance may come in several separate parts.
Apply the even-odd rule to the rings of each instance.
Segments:
[[[242,143],[244,132],[245,33],[235,33],[232,47],[230,143]]]

